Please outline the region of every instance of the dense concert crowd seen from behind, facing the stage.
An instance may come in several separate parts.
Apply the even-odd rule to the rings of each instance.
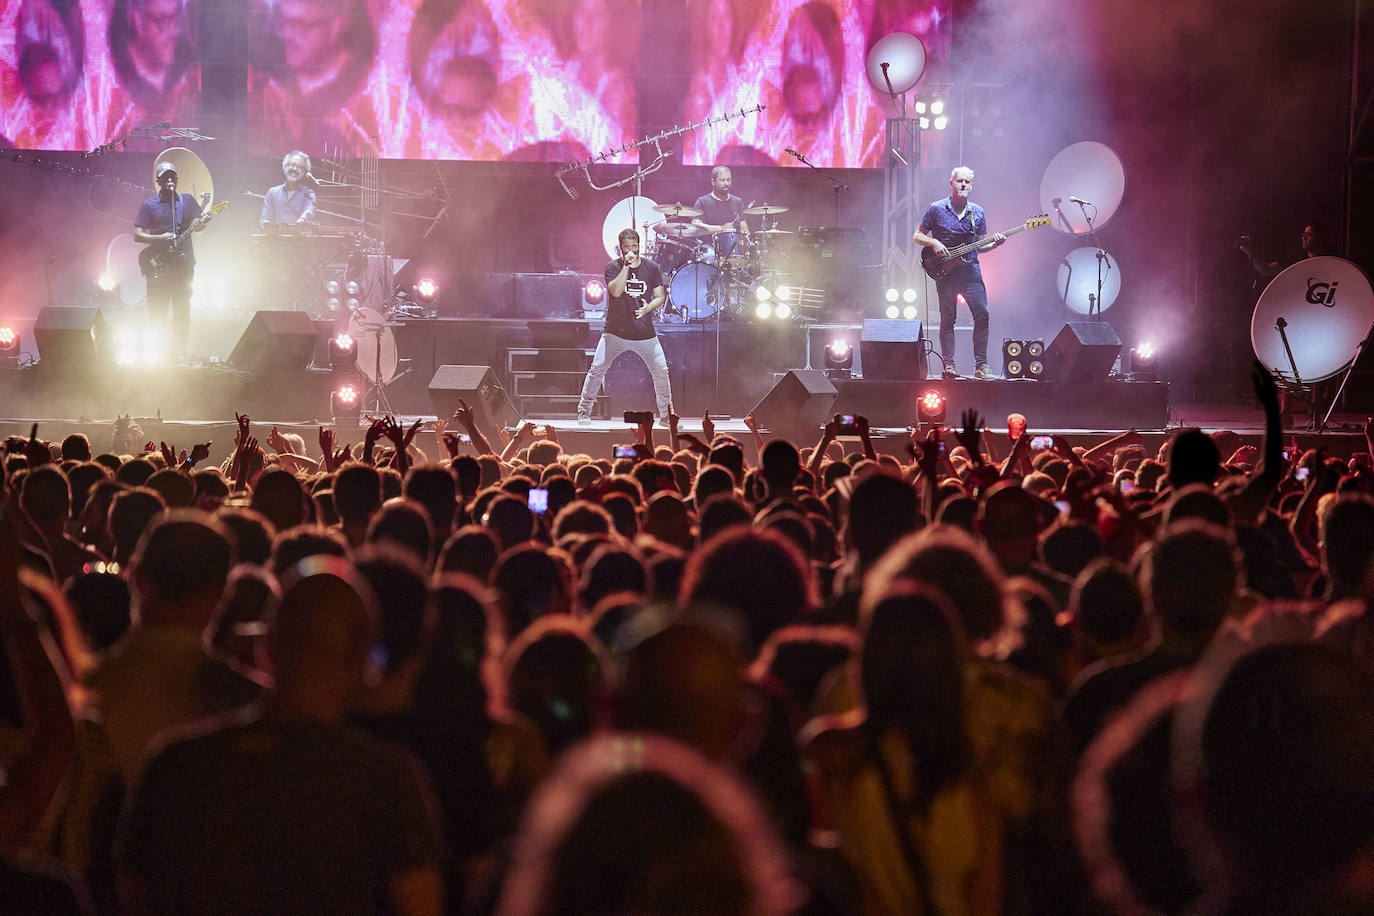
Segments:
[[[11,437],[0,909],[1370,912],[1374,449],[1254,387],[1157,455]]]

